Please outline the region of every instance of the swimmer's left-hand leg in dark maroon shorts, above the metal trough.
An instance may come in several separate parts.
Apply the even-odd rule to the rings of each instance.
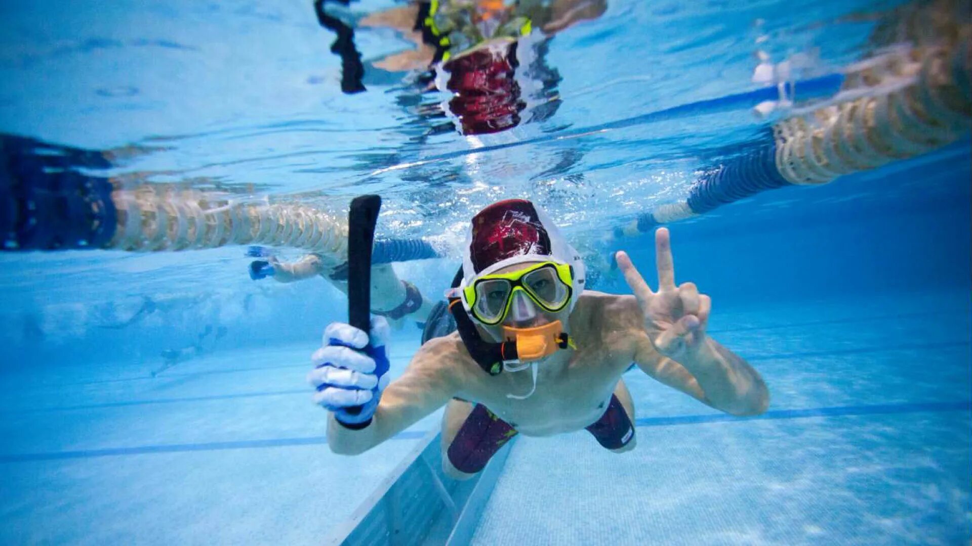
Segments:
[[[516,429],[486,409],[453,398],[442,416],[442,470],[455,480],[468,480],[486,466]]]

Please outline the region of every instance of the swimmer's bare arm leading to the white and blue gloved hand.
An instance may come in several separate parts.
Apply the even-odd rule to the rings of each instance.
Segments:
[[[454,344],[433,339],[422,346],[399,379],[381,395],[371,424],[360,430],[342,427],[330,414],[328,445],[341,455],[357,455],[384,442],[431,414],[457,392]]]

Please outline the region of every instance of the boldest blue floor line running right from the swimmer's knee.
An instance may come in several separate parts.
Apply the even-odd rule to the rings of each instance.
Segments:
[[[737,421],[769,421],[776,419],[805,419],[809,417],[841,417],[848,415],[887,415],[897,413],[972,411],[972,400],[964,402],[919,402],[906,404],[875,404],[866,406],[835,406],[793,410],[771,410],[753,417],[736,417],[725,413],[712,415],[680,415],[674,417],[643,417],[635,420],[636,427],[667,427],[669,425],[698,425]]]

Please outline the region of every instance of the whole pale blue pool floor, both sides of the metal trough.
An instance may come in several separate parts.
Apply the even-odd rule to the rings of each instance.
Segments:
[[[969,292],[717,310],[759,419],[625,375],[638,447],[520,438],[474,544],[955,544],[972,524]],[[393,373],[417,343],[393,347]],[[3,379],[0,543],[312,544],[439,414],[330,454],[300,345]]]

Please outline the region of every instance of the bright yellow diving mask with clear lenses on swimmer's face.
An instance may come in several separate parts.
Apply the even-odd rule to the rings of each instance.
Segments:
[[[543,311],[559,313],[571,303],[573,268],[566,263],[543,261],[508,273],[480,275],[462,290],[469,314],[481,324],[502,323],[517,290]]]

